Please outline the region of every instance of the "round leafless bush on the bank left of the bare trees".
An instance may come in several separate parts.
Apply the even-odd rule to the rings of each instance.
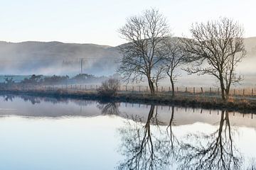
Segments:
[[[107,81],[102,82],[102,86],[97,89],[98,93],[102,97],[112,97],[117,94],[117,90],[120,87],[119,79],[108,79]]]

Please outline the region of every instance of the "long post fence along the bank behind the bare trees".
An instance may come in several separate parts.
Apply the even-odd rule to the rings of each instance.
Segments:
[[[48,86],[24,86],[24,89],[68,89],[72,91],[96,91],[100,87],[99,84],[68,84],[68,85],[48,85]],[[230,96],[256,96],[256,89],[230,89]],[[125,86],[122,85],[119,91],[150,93],[148,86]],[[176,94],[208,94],[220,95],[220,88],[215,87],[186,87],[178,86],[175,88]],[[171,93],[171,86],[159,86],[157,89],[159,94]]]

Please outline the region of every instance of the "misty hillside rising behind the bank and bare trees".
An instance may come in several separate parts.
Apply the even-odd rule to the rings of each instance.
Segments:
[[[256,74],[256,38],[245,38],[247,57],[238,67],[242,74]],[[110,75],[117,68],[117,47],[63,42],[0,42],[0,74]]]

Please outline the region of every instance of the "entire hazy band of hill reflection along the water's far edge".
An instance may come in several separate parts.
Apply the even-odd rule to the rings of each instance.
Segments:
[[[0,96],[0,115],[24,115],[36,117],[60,116],[96,116],[118,115],[122,118],[135,118],[137,115],[146,123],[150,106],[132,103],[97,103],[67,98],[35,97],[28,95],[2,95]],[[6,108],[11,110],[6,111]],[[155,106],[157,118],[161,125],[169,125],[171,112],[174,125],[189,125],[197,122],[215,125],[218,123],[221,111],[209,111],[193,108],[177,108],[174,106]],[[1,110],[2,109],[2,110]],[[252,114],[228,113],[230,124],[256,128],[256,119]]]

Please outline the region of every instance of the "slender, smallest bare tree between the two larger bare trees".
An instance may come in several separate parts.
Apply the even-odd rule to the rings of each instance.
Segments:
[[[164,42],[164,70],[171,82],[172,96],[174,96],[174,81],[178,77],[176,69],[186,63],[187,52],[181,47],[181,42],[177,39],[169,38]]]

